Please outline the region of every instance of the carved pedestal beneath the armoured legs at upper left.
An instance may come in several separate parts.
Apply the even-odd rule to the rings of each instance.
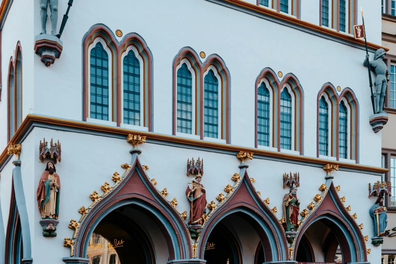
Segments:
[[[41,62],[47,67],[61,57],[63,42],[58,37],[48,34],[36,35],[34,53],[41,56]]]

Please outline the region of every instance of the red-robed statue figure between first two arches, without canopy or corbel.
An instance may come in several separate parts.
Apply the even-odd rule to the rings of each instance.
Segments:
[[[202,215],[206,208],[206,191],[205,187],[201,184],[202,175],[197,174],[192,180],[192,187],[187,187],[186,195],[190,201],[190,221],[189,225],[202,225]]]

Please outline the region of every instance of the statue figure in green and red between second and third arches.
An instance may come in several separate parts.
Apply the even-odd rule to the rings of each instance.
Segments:
[[[297,186],[292,186],[289,193],[283,197],[283,217],[285,219],[283,228],[286,232],[296,231],[299,209],[300,202],[297,199]]]

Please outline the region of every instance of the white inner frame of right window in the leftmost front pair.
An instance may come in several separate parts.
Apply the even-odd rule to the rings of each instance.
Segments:
[[[139,67],[140,67],[140,125],[131,125],[131,124],[125,124],[124,123],[124,58],[128,55],[128,53],[132,51],[135,54],[135,57],[139,61]],[[148,131],[149,128],[144,126],[144,60],[142,56],[140,56],[138,49],[134,45],[129,45],[126,50],[121,54],[121,126],[124,128],[128,129],[138,129],[138,130],[143,130],[143,131]]]

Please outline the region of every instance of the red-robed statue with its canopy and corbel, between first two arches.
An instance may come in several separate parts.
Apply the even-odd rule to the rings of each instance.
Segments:
[[[203,159],[198,158],[194,162],[194,158],[187,160],[187,175],[192,174],[194,177],[189,183],[186,195],[190,203],[190,220],[188,227],[191,238],[195,239],[199,236],[203,225],[203,216],[206,212],[206,191],[201,184],[203,176]]]

